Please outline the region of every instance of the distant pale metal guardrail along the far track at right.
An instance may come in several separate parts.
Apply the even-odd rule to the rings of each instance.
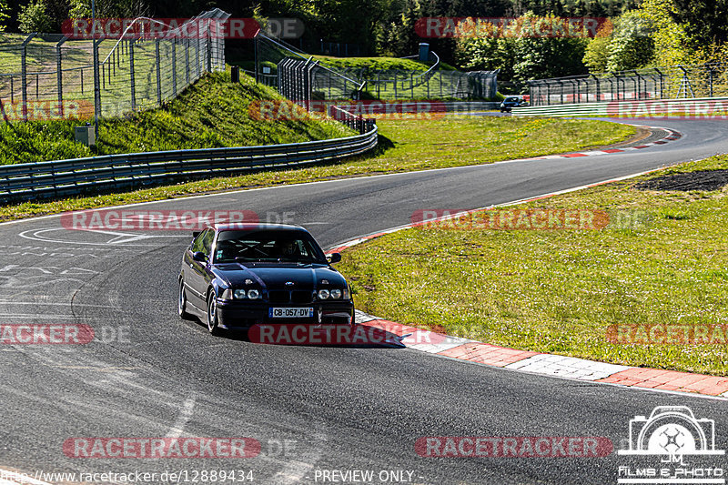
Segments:
[[[728,96],[682,99],[645,99],[574,105],[514,107],[513,116],[609,116],[623,118],[662,118],[665,116],[728,117]]]

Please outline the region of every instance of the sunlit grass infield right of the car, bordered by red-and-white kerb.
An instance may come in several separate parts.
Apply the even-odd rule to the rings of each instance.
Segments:
[[[719,156],[658,175],[725,167],[728,156]],[[728,375],[724,344],[606,338],[618,324],[728,324],[728,188],[632,188],[645,178],[520,206],[602,209],[612,224],[601,230],[409,229],[345,251],[338,268],[353,282],[357,308],[403,324],[516,349]],[[632,224],[614,223],[618,216]]]

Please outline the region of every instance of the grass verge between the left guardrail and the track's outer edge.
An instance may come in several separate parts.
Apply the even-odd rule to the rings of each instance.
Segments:
[[[241,86],[240,89],[251,87]],[[260,89],[260,87],[256,87]],[[200,95],[201,96],[201,95]],[[185,109],[180,102],[179,109]],[[210,110],[213,116],[215,110]],[[198,115],[198,114],[197,114]],[[159,115],[169,116],[169,115]],[[190,115],[191,116],[191,115]],[[222,116],[222,114],[219,114]],[[247,126],[247,112],[228,113]],[[187,119],[189,123],[196,120]],[[119,121],[118,123],[124,123]],[[199,121],[202,124],[202,121]],[[263,126],[258,126],[263,125]],[[264,124],[259,130],[274,130]],[[139,131],[136,129],[137,133]],[[167,136],[167,132],[164,136]],[[442,136],[447,133],[448,136]],[[66,210],[107,207],[149,200],[233,190],[298,184],[337,177],[359,177],[439,167],[491,163],[514,157],[548,155],[587,146],[603,146],[632,136],[632,126],[593,120],[528,119],[510,117],[464,117],[440,120],[379,120],[379,149],[369,157],[293,170],[251,173],[239,177],[217,177],[178,185],[146,188],[96,197],[78,197],[56,202],[27,202],[0,207],[0,220],[51,214]],[[175,136],[174,130],[170,136]],[[162,143],[157,140],[157,143]]]

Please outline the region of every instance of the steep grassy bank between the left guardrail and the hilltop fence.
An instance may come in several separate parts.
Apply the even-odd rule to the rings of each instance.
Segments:
[[[354,134],[338,122],[314,119],[261,122],[248,116],[257,99],[279,98],[248,76],[207,75],[164,108],[103,119],[95,149],[77,143],[76,119],[0,125],[0,164],[183,148],[296,143]]]

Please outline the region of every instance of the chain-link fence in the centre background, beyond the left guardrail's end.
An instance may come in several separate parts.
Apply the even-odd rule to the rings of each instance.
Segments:
[[[322,65],[321,60],[293,45],[258,34],[253,74],[258,82],[281,91],[283,83],[288,82],[288,78],[280,76],[281,63],[288,59],[308,62],[312,65],[310,85],[315,99],[488,99],[496,96],[498,71],[438,70],[437,55],[430,55],[433,65],[422,71],[339,69]]]

